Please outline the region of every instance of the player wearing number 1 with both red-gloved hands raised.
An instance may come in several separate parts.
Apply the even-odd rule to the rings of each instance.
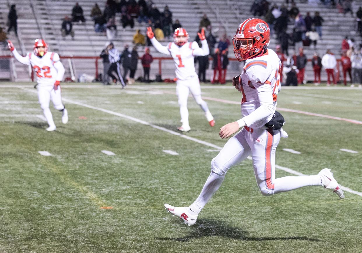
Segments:
[[[189,111],[187,109],[189,92],[191,92],[196,103],[205,112],[210,126],[213,127],[215,125],[214,117],[212,117],[207,103],[201,98],[200,82],[195,71],[194,56],[205,56],[210,53],[204,30],[202,29],[198,35],[201,39],[202,48],[198,46],[197,42],[188,42],[189,35],[182,27],[175,30],[173,34],[174,43],[170,42],[168,46],[162,46],[154,37],[152,28],[147,27],[147,36],[150,38],[152,45],[157,51],[170,55],[175,63],[176,93],[182,122],[182,126],[178,127],[177,130],[181,132],[189,132],[191,129],[189,125]]]

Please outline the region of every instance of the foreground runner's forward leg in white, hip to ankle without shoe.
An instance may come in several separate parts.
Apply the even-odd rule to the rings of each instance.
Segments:
[[[191,210],[200,213],[212,195],[219,189],[226,172],[251,155],[251,149],[244,138],[244,131],[245,129],[242,129],[231,137],[219,154],[211,160],[210,176],[207,178],[198,198],[190,205]]]

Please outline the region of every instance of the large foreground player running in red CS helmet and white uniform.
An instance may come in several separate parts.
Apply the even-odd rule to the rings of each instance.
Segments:
[[[288,136],[282,130],[283,117],[275,111],[280,89],[281,62],[277,54],[267,48],[269,37],[268,25],[258,18],[249,18],[241,23],[233,37],[236,58],[239,61],[245,60],[242,73],[233,78],[233,85],[243,95],[242,118],[224,125],[220,128],[219,135],[221,138],[228,138],[241,130],[212,159],[210,176],[199,197],[190,206],[164,205],[169,213],[189,226],[196,222],[200,211],[219,189],[226,172],[248,156],[252,157],[256,181],[264,196],[319,185],[331,189],[341,199],[344,198],[341,186],[327,168],[317,175],[275,179],[275,150],[280,138]]]

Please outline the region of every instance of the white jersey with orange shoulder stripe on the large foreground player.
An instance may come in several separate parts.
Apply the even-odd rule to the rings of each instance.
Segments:
[[[245,61],[240,74],[241,114],[248,127],[264,127],[273,117],[281,87],[280,75],[281,61],[271,49]]]

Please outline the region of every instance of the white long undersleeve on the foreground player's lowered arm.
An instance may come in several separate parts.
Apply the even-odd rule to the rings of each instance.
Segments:
[[[263,83],[262,85],[256,87],[256,92],[259,99],[260,107],[258,107],[248,116],[243,117],[243,120],[247,126],[250,126],[259,120],[267,119],[274,113],[274,103],[272,95],[273,91],[271,90],[271,85],[268,83]]]

